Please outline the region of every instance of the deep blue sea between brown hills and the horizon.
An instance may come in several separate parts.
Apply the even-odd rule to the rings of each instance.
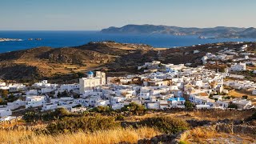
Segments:
[[[102,34],[99,31],[0,31],[0,38],[21,38],[21,42],[0,42],[0,53],[38,46],[68,47],[88,42],[115,41],[143,43],[154,47],[192,46],[215,42],[254,42],[253,38],[199,39],[198,36],[173,36],[167,34]],[[29,41],[28,38],[42,38]]]

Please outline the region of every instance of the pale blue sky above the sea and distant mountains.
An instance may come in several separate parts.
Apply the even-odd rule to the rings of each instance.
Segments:
[[[255,0],[0,0],[0,30],[256,27]]]

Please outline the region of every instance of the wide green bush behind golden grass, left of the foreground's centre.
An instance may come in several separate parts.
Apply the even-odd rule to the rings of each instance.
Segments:
[[[94,132],[96,130],[109,130],[120,126],[112,117],[82,117],[63,118],[46,126],[46,134],[74,133],[80,130]]]

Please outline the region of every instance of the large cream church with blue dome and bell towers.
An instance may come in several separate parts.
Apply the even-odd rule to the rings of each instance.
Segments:
[[[87,78],[79,79],[80,94],[83,94],[85,90],[93,90],[97,86],[106,85],[106,74],[100,71],[96,71],[96,77],[93,72],[88,72]]]

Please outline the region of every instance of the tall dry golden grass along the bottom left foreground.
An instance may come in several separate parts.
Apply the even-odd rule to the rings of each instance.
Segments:
[[[160,134],[153,128],[142,127],[137,130],[133,128],[102,130],[94,133],[86,134],[78,132],[76,134],[60,134],[57,136],[51,135],[36,135],[31,131],[17,130],[0,130],[0,143],[36,143],[36,144],[78,144],[78,143],[94,143],[94,144],[109,144],[118,142],[136,143],[138,139],[151,138]]]

